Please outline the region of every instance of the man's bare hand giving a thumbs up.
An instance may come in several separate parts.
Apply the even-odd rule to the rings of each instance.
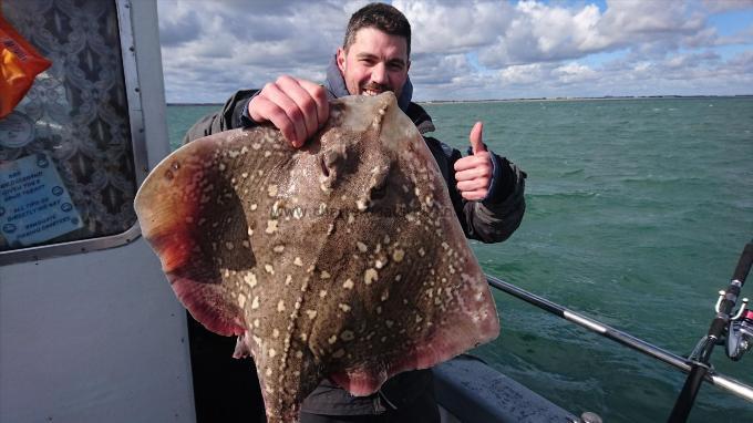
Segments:
[[[468,136],[473,155],[455,162],[455,179],[463,198],[473,202],[484,199],[492,185],[492,156],[482,142],[484,124],[476,122]]]

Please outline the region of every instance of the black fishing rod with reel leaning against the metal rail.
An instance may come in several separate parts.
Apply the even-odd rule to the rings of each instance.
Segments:
[[[674,403],[672,414],[668,420],[669,423],[680,423],[688,420],[690,410],[695,402],[695,395],[701,389],[701,383],[706,374],[713,373],[710,360],[716,344],[726,343],[726,354],[734,361],[740,360],[753,344],[753,310],[746,310],[747,298],[744,298],[740,309],[736,312],[734,311],[740,290],[751,271],[751,264],[753,264],[753,240],[745,245],[740,255],[726,290],[719,291],[719,299],[714,307],[716,316],[711,321],[706,336],[699,341],[690,354],[692,369]]]

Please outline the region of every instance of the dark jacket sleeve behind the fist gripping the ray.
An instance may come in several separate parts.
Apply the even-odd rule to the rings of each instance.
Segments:
[[[244,114],[248,101],[256,92],[257,90],[241,90],[233,94],[223,109],[199,118],[184,135],[183,144],[218,132],[248,126],[246,121],[249,118],[247,114],[244,117]]]

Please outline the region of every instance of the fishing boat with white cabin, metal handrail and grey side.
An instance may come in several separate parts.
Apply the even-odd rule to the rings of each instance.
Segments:
[[[0,195],[8,194],[0,212],[0,421],[264,421],[258,384],[244,376],[254,374],[252,364],[208,347],[217,340],[208,341],[212,334],[175,300],[132,209],[136,188],[171,149],[156,1],[1,6],[44,44],[53,65],[40,89],[0,121],[0,142],[12,142],[0,149],[7,183]],[[50,161],[61,171],[51,171]],[[27,184],[53,189],[14,197],[11,187]],[[3,226],[20,221],[25,231]],[[700,355],[674,355],[488,280],[753,401],[750,386],[712,372]],[[733,299],[722,297],[732,314]],[[440,364],[434,374],[443,422],[600,421],[588,410],[564,410],[472,355]],[[674,421],[682,421],[683,407]]]

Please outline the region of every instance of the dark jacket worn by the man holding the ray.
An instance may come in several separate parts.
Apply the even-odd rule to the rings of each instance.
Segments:
[[[329,86],[328,86],[329,89]],[[329,91],[330,96],[334,96]],[[184,144],[196,138],[236,127],[252,125],[246,107],[255,91],[238,91],[217,113],[204,116],[186,133]],[[404,111],[424,135],[442,175],[447,184],[455,214],[468,238],[484,243],[507,239],[520,225],[525,210],[524,188],[526,174],[504,157],[492,153],[494,177],[486,198],[467,202],[457,190],[454,164],[462,157],[460,151],[436,138],[425,136],[434,131],[429,114],[415,103],[405,102]],[[401,107],[403,109],[403,107]],[[430,370],[398,374],[386,381],[378,394],[352,396],[330,380],[322,381],[306,399],[301,410],[314,414],[361,415],[379,414],[388,407],[401,407],[424,395],[432,386]]]

